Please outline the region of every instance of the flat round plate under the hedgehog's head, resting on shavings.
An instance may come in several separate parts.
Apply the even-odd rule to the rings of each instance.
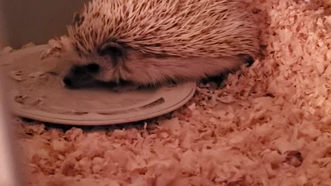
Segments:
[[[61,85],[68,63],[57,56],[41,60],[47,45],[17,50],[1,57],[8,73],[12,112],[48,123],[110,125],[167,114],[187,103],[196,83],[174,87],[112,92],[106,88],[68,90]]]

